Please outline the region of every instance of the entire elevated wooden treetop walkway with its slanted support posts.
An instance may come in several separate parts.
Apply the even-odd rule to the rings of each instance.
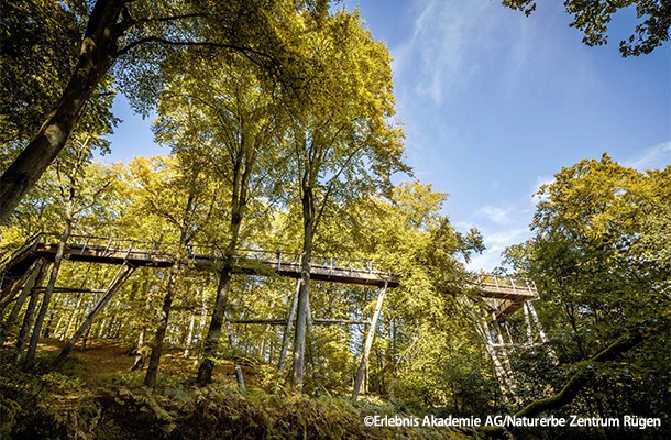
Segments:
[[[14,314],[14,311],[16,314],[19,312],[29,292],[43,289],[43,287],[33,286],[33,284],[38,276],[37,274],[42,273],[45,268],[44,261],[55,260],[59,240],[61,235],[58,234],[40,233],[28,240],[24,245],[0,263],[2,299],[4,299],[6,296],[9,296],[10,299],[4,299],[4,302],[8,302],[12,300],[11,297],[18,295],[12,314]],[[120,268],[105,290],[76,289],[70,287],[55,287],[52,285],[52,287],[55,287],[53,292],[88,292],[101,294],[94,309],[89,312],[85,321],[67,343],[66,348],[63,349],[62,353],[56,359],[56,363],[62,362],[65,356],[67,356],[77,340],[81,338],[88,328],[90,328],[96,315],[107,305],[112,295],[114,295],[136,267],[170,267],[176,263],[182,263],[191,265],[196,268],[212,271],[217,270],[218,264],[221,264],[223,252],[220,248],[215,245],[187,244],[180,246],[177,243],[147,240],[70,235],[64,249],[64,257],[74,262],[116,264],[119,265]],[[241,249],[233,258],[233,267],[237,273],[254,275],[277,274],[279,276],[298,279],[300,279],[301,276],[302,255],[299,253],[282,252],[279,250]],[[15,284],[15,280],[22,277],[25,279],[25,283],[23,286],[20,286],[21,294],[19,295],[19,287],[12,286]],[[312,318],[309,318],[308,320],[311,324],[330,326],[360,323],[370,326],[354,384],[354,397],[356,397],[363,381],[363,374],[375,336],[375,327],[382,309],[386,288],[398,287],[400,284],[400,275],[392,273],[391,271],[385,271],[380,263],[372,261],[312,255],[310,262],[310,278],[316,280],[380,287],[375,311],[371,321]],[[21,284],[22,282],[18,283],[18,285]],[[292,308],[287,319],[239,319],[232,321],[233,323],[286,326],[279,362],[280,371],[288,350],[290,328],[294,323],[298,302],[299,286],[300,280],[298,282],[296,293],[294,294],[290,305]],[[11,290],[8,289],[8,287]],[[515,314],[520,308],[524,308],[528,323],[528,310],[532,309],[530,302],[527,301],[538,297],[536,285],[532,282],[529,283],[526,279],[501,277],[493,274],[474,275],[463,287],[470,289],[474,288],[480,293],[482,297],[481,302],[486,306],[484,312],[492,319],[490,322],[492,322],[492,324],[495,326],[494,328],[498,331],[498,345],[504,344],[498,326],[499,321],[505,321],[508,316]],[[7,295],[4,290],[7,290]],[[468,301],[468,298],[465,300]],[[308,314],[310,314],[309,309]],[[10,320],[12,319],[13,318],[10,316]],[[490,341],[491,333],[487,331],[486,319],[481,326],[482,328],[480,328],[480,331],[485,337],[485,341],[487,341],[487,349],[492,352],[494,344]],[[530,326],[527,327],[530,329]],[[230,340],[234,341],[230,326],[228,331],[230,333]],[[541,337],[543,337],[542,333]],[[529,338],[529,341],[532,342],[532,339]],[[546,341],[543,340],[543,342]],[[231,344],[233,344],[233,342],[231,342]],[[493,359],[496,362],[496,358],[494,356]],[[237,369],[239,369],[239,366],[237,366]],[[499,373],[503,377],[505,372],[502,372]],[[239,377],[239,383],[243,383],[241,377]],[[514,392],[514,386],[510,386],[510,389]]]

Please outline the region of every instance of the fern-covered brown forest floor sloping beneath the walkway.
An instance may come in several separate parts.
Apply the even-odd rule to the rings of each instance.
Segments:
[[[212,385],[193,384],[196,366],[179,346],[166,346],[156,386],[131,372],[135,356],[114,340],[75,349],[53,372],[48,361],[65,345],[44,339],[30,372],[0,360],[0,438],[12,439],[472,439],[449,428],[370,427],[366,416],[407,417],[380,398],[353,402],[323,392],[307,396],[273,385],[267,365],[243,365],[246,389],[221,363]],[[4,350],[4,353],[11,350]],[[282,381],[279,381],[282,382]],[[277,384],[275,384],[277,385]]]

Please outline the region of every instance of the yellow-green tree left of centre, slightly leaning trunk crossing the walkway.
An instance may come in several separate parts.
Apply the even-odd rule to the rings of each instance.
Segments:
[[[280,166],[277,136],[282,133],[282,112],[273,100],[275,85],[260,81],[258,69],[249,61],[237,57],[227,63],[199,63],[198,55],[185,53],[172,62],[174,77],[161,95],[155,131],[160,142],[170,145],[193,167],[209,173],[223,189],[212,204],[226,220],[211,230],[223,227],[226,233],[215,233],[207,240],[221,250],[222,266],[198,370],[198,383],[205,385],[211,380],[227,319],[233,263],[249,205],[267,185],[268,174]],[[190,67],[185,70],[184,65]],[[238,375],[242,386],[240,371]]]

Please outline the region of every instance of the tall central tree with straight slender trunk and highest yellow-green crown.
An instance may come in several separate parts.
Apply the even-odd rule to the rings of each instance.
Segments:
[[[319,223],[332,204],[384,191],[403,163],[403,132],[389,119],[394,97],[389,55],[356,12],[306,18],[301,50],[309,90],[293,102],[287,143],[302,212],[302,266],[294,340],[294,385],[302,386],[310,263]]]

